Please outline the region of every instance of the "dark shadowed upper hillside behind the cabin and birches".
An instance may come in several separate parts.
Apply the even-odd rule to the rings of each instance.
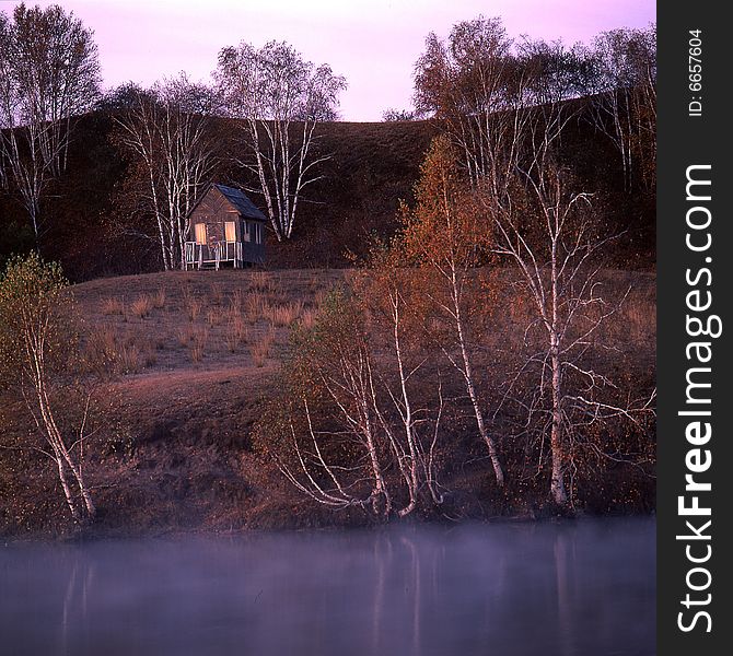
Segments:
[[[221,143],[232,148],[235,121],[222,119],[217,129]],[[350,255],[363,255],[371,236],[392,234],[398,202],[411,200],[437,130],[429,121],[322,125],[318,153],[330,159],[319,171],[323,178],[307,187],[293,238],[278,244],[269,233],[267,268],[349,266]],[[594,202],[607,209],[609,227],[625,231],[615,243],[614,262],[649,268],[654,261],[654,198],[623,190],[618,157],[587,121],[569,128],[563,150],[585,188],[595,194]],[[44,254],[59,259],[72,280],[160,269],[154,243],[135,234],[148,221],[136,214],[131,201],[135,176],[135,166],[115,143],[112,119],[103,114],[82,117],[68,173],[49,189],[43,209],[50,226]],[[246,183],[226,157],[217,180]],[[253,200],[263,206],[256,195]],[[32,244],[26,223],[20,204],[0,194],[0,258]]]

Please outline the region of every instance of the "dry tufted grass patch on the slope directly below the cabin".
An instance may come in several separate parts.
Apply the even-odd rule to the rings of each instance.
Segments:
[[[280,358],[298,321],[312,325],[314,296],[342,279],[342,271],[170,272],[77,285],[89,317],[90,373],[121,378],[120,384],[128,375],[175,378],[193,368],[234,367],[254,375],[261,371],[255,366]],[[142,309],[136,308],[144,320],[131,308],[140,297]]]

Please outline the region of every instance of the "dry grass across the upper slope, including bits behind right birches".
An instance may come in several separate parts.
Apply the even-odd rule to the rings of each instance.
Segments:
[[[193,370],[218,371],[222,376],[230,371],[237,375],[248,372],[243,375],[256,378],[263,367],[270,367],[287,352],[292,328],[314,327],[329,290],[345,277],[342,271],[220,271],[218,276],[130,278],[123,281],[124,286],[115,280],[78,285],[89,315],[85,343],[90,368],[96,367],[94,371],[104,376],[133,374],[130,385],[138,384],[138,376],[146,379],[163,374],[174,380]],[[510,364],[517,349],[516,358],[524,356],[524,328],[534,318],[526,294],[512,285],[515,279],[510,271],[501,272],[496,281],[499,298],[490,303],[496,312],[482,318],[480,338],[477,336],[477,343],[491,358],[498,353],[496,358]],[[616,359],[616,353],[631,353],[633,371],[647,372],[653,366],[649,354],[653,354],[655,335],[653,276],[613,270],[604,273],[603,283],[604,297],[610,304],[617,303],[629,285],[633,289],[594,336],[598,345],[612,349],[598,351],[596,356]],[[220,285],[219,291],[214,285]],[[149,297],[153,305],[144,321],[130,308],[139,296]],[[219,297],[221,304],[214,304]],[[156,308],[162,301],[164,306]],[[366,330],[370,325],[366,317]],[[539,330],[531,331],[528,351],[536,339],[540,339]],[[123,378],[120,384],[128,383]]]

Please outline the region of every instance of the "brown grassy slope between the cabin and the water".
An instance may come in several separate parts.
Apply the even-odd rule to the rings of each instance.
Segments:
[[[97,397],[104,429],[90,444],[85,470],[108,534],[174,529],[228,530],[364,522],[354,511],[333,513],[299,496],[272,462],[253,449],[264,405],[281,398],[278,368],[291,329],[312,324],[334,284],[349,270],[172,272],[107,278],[73,288],[84,317],[88,353],[100,363]],[[496,407],[493,372],[522,349],[528,307],[509,272],[481,343],[481,394]],[[654,277],[608,270],[609,294],[632,292],[605,328],[604,366],[641,389],[654,384]],[[447,380],[447,379],[446,379]],[[499,447],[513,476],[504,493],[492,484],[482,445],[459,388],[446,382],[441,480],[450,491],[446,517],[528,515],[546,497],[536,464],[525,462],[517,418],[496,419]],[[21,405],[2,410],[5,434],[33,430]],[[651,445],[653,448],[653,445]],[[653,478],[612,464],[585,481],[579,507],[591,512],[648,511]],[[527,469],[528,468],[528,469]],[[0,450],[0,535],[57,535],[68,509],[42,456]]]

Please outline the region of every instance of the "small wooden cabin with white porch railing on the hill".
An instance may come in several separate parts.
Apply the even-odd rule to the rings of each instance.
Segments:
[[[238,189],[209,185],[188,213],[186,269],[264,263],[266,222]]]

